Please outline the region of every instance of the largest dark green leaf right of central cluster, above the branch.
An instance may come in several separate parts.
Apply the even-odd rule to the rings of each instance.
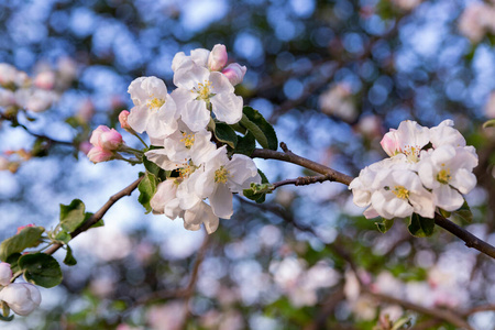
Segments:
[[[278,140],[275,130],[257,110],[244,107],[240,123],[253,133],[261,146],[277,150]]]

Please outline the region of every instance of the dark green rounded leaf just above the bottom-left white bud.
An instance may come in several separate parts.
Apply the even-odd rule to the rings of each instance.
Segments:
[[[24,279],[29,283],[46,288],[62,283],[61,265],[50,254],[24,254],[19,258],[19,267],[24,271]]]

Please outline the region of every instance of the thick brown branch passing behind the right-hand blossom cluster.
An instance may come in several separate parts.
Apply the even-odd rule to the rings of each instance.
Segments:
[[[277,152],[273,150],[266,150],[266,148],[255,148],[253,153],[251,154],[251,157],[253,158],[263,158],[263,160],[277,160],[283,162],[293,163],[299,166],[302,166],[305,168],[311,169],[316,173],[322,174],[326,176],[327,180],[341,183],[346,186],[351,184],[353,180],[353,177],[340,173],[336,169],[332,169],[330,167],[327,167],[324,165],[318,164],[316,162],[312,162],[310,160],[307,160],[305,157],[298,156],[292,151],[287,148],[287,145],[284,142],[280,142],[280,147],[284,152]],[[476,238],[465,229],[457,226],[452,221],[446,219],[439,213],[435,213],[435,223],[437,223],[439,227],[443,228],[448,232],[452,233],[453,235],[458,237],[462,241],[465,242],[465,245],[468,248],[475,249],[493,258],[495,258],[495,248],[487,242]]]

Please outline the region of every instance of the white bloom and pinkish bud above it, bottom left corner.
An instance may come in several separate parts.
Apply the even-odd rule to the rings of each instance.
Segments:
[[[29,283],[10,283],[11,278],[10,264],[0,263],[0,301],[7,304],[13,312],[26,316],[40,306],[40,290]]]

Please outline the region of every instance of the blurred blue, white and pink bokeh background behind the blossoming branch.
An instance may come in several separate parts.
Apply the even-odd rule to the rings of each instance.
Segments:
[[[55,226],[59,204],[74,198],[96,211],[138,178],[141,165],[90,163],[82,142],[99,124],[117,128],[133,79],[157,76],[173,90],[174,55],[220,43],[248,67],[238,95],[278,140],[352,176],[386,156],[380,140],[400,121],[453,119],[480,155],[466,197],[474,220],[460,223],[493,244],[495,135],[481,128],[495,117],[491,18],[493,2],[460,0],[2,1],[0,62],[65,82],[47,111],[19,114],[28,130],[0,122],[11,169],[0,172],[0,239]],[[312,174],[256,164],[271,182]],[[413,238],[407,220],[380,233],[343,185],[282,187],[264,205],[235,198],[234,208],[205,243],[180,219],[144,215],[138,193],[121,199],[103,228],[70,243],[78,264],[63,266],[41,308],[2,329],[373,329],[387,308],[417,329],[457,329],[353,294],[349,260],[397,299],[462,312],[495,304],[493,261],[441,229]],[[469,321],[493,329],[495,312]]]

